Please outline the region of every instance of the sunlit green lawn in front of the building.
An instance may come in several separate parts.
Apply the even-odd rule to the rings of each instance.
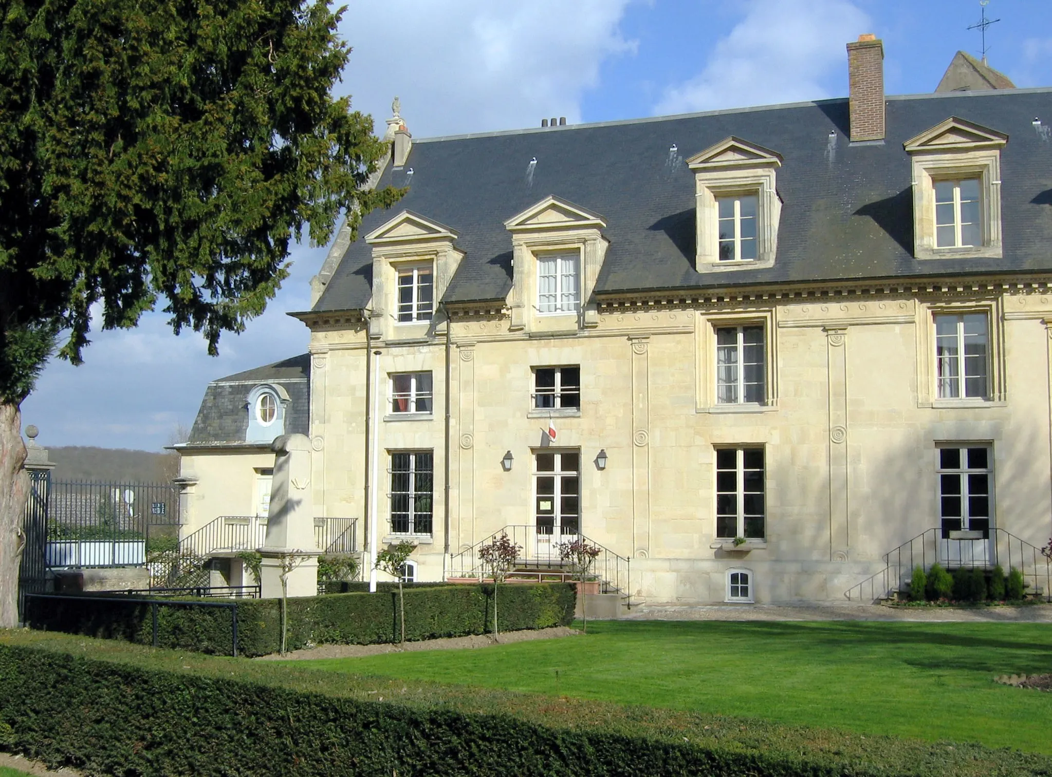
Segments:
[[[319,669],[605,699],[1052,754],[1043,623],[596,621],[482,650],[310,661]]]

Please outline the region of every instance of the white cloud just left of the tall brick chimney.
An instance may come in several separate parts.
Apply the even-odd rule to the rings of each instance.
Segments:
[[[847,0],[750,0],[745,18],[697,76],[670,86],[654,113],[682,114],[829,97],[832,68],[847,80],[845,44],[870,29]]]

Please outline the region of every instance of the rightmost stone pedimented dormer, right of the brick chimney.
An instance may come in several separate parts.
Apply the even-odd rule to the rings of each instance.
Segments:
[[[903,146],[913,161],[917,259],[1002,257],[1000,149],[1008,136],[951,116]]]

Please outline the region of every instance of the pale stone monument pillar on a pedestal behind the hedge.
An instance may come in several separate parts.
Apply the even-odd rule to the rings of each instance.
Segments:
[[[305,434],[283,434],[270,446],[274,480],[266,539],[259,549],[260,593],[281,597],[281,574],[286,572],[289,596],[318,594],[318,556],[315,546],[315,511],[310,496],[310,439]]]

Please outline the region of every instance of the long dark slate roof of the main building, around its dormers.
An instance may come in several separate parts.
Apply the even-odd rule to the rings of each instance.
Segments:
[[[911,161],[903,143],[951,116],[1009,136],[1002,150],[1004,259],[913,257]],[[849,143],[847,99],[413,141],[406,164],[388,167],[379,183],[408,192],[391,210],[369,213],[359,236],[402,209],[448,224],[466,252],[446,290],[449,303],[507,295],[511,236],[504,221],[548,195],[606,220],[610,246],[599,297],[1052,270],[1050,122],[1052,89],[1041,88],[888,98],[883,143]],[[777,255],[766,269],[699,273],[694,177],[684,160],[728,136],[783,157]],[[359,237],[313,309],[365,308],[371,274],[370,248]]]

